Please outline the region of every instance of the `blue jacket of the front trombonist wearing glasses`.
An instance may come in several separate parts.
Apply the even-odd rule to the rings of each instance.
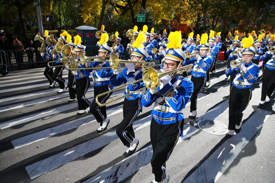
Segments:
[[[155,102],[152,118],[159,124],[176,123],[184,119],[182,111],[192,95],[193,87],[194,84],[189,79],[177,74],[162,89],[158,87],[154,97],[151,97],[148,89],[142,96],[141,103],[144,107],[149,107]]]

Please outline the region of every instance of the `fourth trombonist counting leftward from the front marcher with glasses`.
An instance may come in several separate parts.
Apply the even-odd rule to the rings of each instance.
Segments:
[[[76,37],[74,37],[76,39]],[[79,57],[80,53],[85,54],[85,48],[84,45],[76,45],[74,48],[76,57]],[[91,102],[85,97],[85,94],[87,93],[90,84],[90,69],[81,69],[89,67],[89,64],[82,64],[81,62],[77,66],[79,69],[76,69],[72,73],[75,75],[75,87],[76,87],[76,98],[77,98],[77,104],[78,104],[78,113],[77,115],[86,114],[88,112],[87,108],[91,105]]]

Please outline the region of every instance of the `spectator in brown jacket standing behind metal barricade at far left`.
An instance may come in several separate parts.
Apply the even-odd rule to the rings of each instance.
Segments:
[[[24,54],[24,46],[17,39],[17,37],[13,37],[13,42],[11,43],[12,49],[14,49],[14,56],[18,66],[18,69],[23,69],[23,54]]]

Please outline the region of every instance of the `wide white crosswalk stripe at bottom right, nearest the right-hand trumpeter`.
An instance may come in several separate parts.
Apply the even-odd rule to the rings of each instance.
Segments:
[[[242,126],[242,132],[226,140],[184,182],[216,182],[272,112],[257,110]],[[201,173],[203,172],[203,174]]]

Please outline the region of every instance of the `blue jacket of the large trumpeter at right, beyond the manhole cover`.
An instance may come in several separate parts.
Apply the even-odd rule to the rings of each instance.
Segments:
[[[241,58],[237,59],[237,61],[242,60]],[[231,67],[225,70],[226,75],[234,74],[236,75],[232,84],[233,86],[243,89],[243,88],[251,88],[252,83],[255,83],[259,76],[260,67],[255,63],[246,63],[245,67],[247,67],[247,72],[242,73],[240,68],[235,68],[231,71]]]

